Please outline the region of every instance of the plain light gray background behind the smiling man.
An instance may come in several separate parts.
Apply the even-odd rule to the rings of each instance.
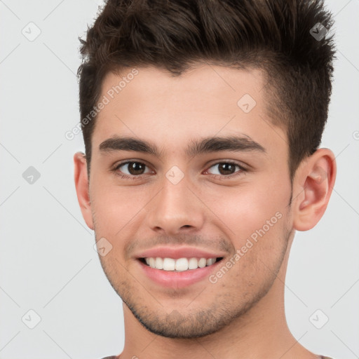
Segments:
[[[0,358],[97,359],[123,348],[121,299],[102,272],[77,203],[72,156],[81,135],[77,36],[101,1],[0,1]],[[323,147],[338,175],[320,223],[297,232],[285,312],[294,337],[335,359],[359,358],[359,0],[331,0],[338,60]],[[36,34],[34,25],[41,34]],[[29,29],[29,27],[31,27]],[[356,131],[356,132],[355,132]],[[22,173],[41,177],[29,184]],[[41,317],[34,329],[36,316]],[[317,310],[329,321],[317,329]],[[323,313],[322,313],[323,312]],[[25,316],[24,322],[22,317]],[[147,344],[146,344],[147,345]]]

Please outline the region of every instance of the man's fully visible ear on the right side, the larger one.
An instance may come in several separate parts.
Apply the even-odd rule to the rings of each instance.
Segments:
[[[309,156],[296,172],[292,203],[293,227],[308,231],[323,216],[337,175],[335,156],[330,149],[318,149]]]

